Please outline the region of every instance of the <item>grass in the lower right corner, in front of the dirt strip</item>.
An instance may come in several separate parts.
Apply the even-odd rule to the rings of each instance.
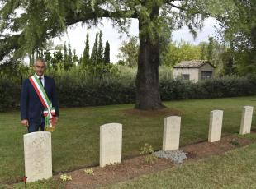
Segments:
[[[253,143],[107,188],[256,188],[255,160],[256,143]]]

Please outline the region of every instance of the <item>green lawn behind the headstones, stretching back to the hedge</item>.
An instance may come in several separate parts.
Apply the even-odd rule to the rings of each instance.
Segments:
[[[222,135],[239,132],[242,107],[256,107],[256,96],[198,99],[164,102],[168,108],[182,113],[180,145],[206,140],[209,115],[214,109],[224,110]],[[58,128],[52,136],[53,171],[97,165],[99,161],[99,128],[104,123],[123,124],[123,158],[139,154],[145,143],[161,149],[164,117],[141,117],[124,110],[133,104],[88,108],[60,109]],[[256,128],[256,112],[252,129]],[[19,112],[0,113],[0,183],[17,182],[24,176],[23,134]]]

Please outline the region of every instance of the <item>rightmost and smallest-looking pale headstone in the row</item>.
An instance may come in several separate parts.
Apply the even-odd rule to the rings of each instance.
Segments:
[[[253,113],[253,106],[244,106],[240,124],[240,135],[244,135],[251,132]]]

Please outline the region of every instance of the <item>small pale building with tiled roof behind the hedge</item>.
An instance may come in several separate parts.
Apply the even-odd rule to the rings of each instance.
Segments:
[[[213,77],[214,69],[206,60],[182,61],[173,67],[173,77],[197,82]]]

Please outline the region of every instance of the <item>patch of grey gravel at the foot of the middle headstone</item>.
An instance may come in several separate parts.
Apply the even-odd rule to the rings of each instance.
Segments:
[[[174,164],[182,164],[184,159],[187,159],[187,153],[183,150],[169,150],[169,151],[157,151],[154,155],[159,158],[171,159]]]

